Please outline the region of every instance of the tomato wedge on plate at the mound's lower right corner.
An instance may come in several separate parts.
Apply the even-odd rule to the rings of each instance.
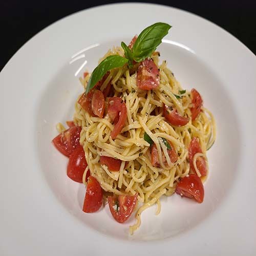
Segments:
[[[177,184],[175,192],[181,196],[194,198],[198,203],[204,200],[204,186],[201,179],[195,174],[189,174]]]

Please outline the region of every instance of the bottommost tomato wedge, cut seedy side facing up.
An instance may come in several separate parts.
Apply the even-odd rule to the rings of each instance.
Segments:
[[[136,206],[137,198],[138,194],[108,197],[111,214],[117,222],[123,223],[130,218]]]

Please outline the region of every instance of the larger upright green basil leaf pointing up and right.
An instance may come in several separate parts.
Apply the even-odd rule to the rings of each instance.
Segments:
[[[170,28],[171,26],[166,23],[155,23],[145,28],[133,46],[133,59],[140,62],[150,57],[161,44],[162,38],[168,34]]]

